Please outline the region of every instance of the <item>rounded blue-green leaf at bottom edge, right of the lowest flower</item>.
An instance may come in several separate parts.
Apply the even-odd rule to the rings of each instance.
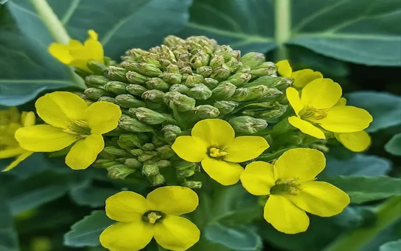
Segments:
[[[261,237],[244,225],[226,226],[213,223],[206,227],[204,234],[209,241],[219,243],[230,250],[256,251],[262,248]]]

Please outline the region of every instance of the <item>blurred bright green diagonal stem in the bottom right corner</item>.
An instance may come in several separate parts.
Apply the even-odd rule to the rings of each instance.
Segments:
[[[401,218],[401,196],[393,197],[375,209],[377,219],[374,225],[349,231],[328,245],[323,251],[357,251],[374,236]]]

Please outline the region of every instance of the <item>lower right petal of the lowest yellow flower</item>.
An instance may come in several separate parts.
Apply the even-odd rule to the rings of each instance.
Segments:
[[[190,220],[180,216],[167,215],[154,225],[154,239],[163,248],[184,251],[200,238],[200,231]]]

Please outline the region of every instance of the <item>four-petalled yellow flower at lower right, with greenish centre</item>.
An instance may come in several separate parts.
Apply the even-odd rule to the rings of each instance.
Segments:
[[[323,153],[309,148],[285,152],[274,165],[256,161],[241,174],[244,188],[254,195],[269,195],[264,218],[284,233],[306,231],[306,212],[322,217],[340,213],[349,197],[339,188],[314,181],[325,167]],[[306,212],[305,212],[306,211]]]

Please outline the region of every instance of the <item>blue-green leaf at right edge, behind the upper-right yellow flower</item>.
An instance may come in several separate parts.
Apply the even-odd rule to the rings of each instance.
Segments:
[[[347,94],[346,98],[348,105],[363,108],[373,116],[367,132],[374,133],[401,124],[400,96],[387,92],[358,91]]]

